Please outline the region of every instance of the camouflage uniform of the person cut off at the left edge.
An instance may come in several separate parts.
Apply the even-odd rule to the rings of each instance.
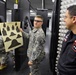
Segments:
[[[2,36],[0,35],[0,70],[6,67],[7,58],[8,56],[4,49],[3,39],[2,39]]]

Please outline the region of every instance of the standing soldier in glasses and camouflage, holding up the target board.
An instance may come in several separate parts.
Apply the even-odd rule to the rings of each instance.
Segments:
[[[42,16],[37,15],[34,18],[34,28],[29,34],[20,29],[23,35],[29,38],[27,56],[29,58],[28,65],[30,68],[30,75],[41,75],[39,71],[39,64],[45,57],[45,33],[42,29],[42,24]]]

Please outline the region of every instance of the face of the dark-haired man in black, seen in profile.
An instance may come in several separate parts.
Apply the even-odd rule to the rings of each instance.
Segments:
[[[65,13],[64,22],[66,24],[66,27],[71,30],[71,28],[73,27],[73,17],[70,16],[68,10]]]

